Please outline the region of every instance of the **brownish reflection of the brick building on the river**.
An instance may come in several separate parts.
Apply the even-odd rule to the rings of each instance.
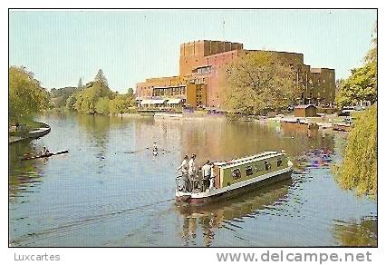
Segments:
[[[314,148],[333,153],[333,135],[322,137],[319,133],[309,138],[304,134],[296,135],[277,129],[280,128],[279,123],[274,125],[230,123],[225,119],[185,121],[180,125],[182,135],[179,139],[183,139],[180,142],[181,155],[197,153],[198,163],[203,163],[207,159],[223,161],[267,150],[285,150],[292,158]]]

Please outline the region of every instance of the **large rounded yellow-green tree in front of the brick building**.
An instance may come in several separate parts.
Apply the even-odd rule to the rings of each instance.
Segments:
[[[222,72],[225,107],[231,113],[257,114],[294,103],[296,74],[269,52],[246,54]]]

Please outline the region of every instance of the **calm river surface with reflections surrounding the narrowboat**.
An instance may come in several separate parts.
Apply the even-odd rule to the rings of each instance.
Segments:
[[[10,145],[13,246],[377,245],[376,201],[333,180],[344,133],[308,138],[278,123],[225,119],[58,113],[37,120],[52,132]],[[165,150],[157,157],[145,149],[154,141]],[[20,161],[43,145],[70,152]],[[194,211],[175,205],[175,169],[184,154],[197,153],[201,165],[282,149],[296,167],[292,180]]]

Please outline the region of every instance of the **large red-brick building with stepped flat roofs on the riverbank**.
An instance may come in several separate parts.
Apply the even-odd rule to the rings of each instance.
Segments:
[[[137,83],[138,102],[144,99],[181,99],[193,108],[221,108],[222,87],[220,70],[240,55],[266,53],[246,50],[243,44],[202,40],[180,45],[179,75],[146,79]],[[335,73],[333,69],[311,68],[304,64],[304,55],[276,52],[277,57],[297,73],[296,84],[303,88],[299,103],[330,106],[335,98]]]

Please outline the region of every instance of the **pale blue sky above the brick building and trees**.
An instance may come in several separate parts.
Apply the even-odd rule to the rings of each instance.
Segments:
[[[44,87],[92,81],[98,69],[114,91],[179,74],[179,44],[241,42],[246,49],[304,54],[304,64],[347,77],[371,47],[376,10],[11,11],[10,65]],[[225,30],[223,30],[225,21]]]

